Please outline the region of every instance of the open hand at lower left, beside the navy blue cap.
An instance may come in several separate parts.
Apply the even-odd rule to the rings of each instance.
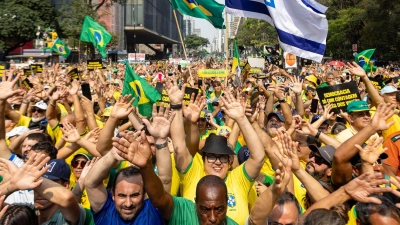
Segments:
[[[29,157],[28,161],[21,168],[16,170],[10,180],[10,186],[16,188],[16,190],[32,190],[39,187],[43,182],[40,178],[50,168],[50,165],[46,165],[49,160],[50,157],[45,154],[35,153],[32,157]],[[6,162],[8,167],[14,167],[12,170],[15,170],[16,165],[9,160],[6,161],[8,161]],[[2,162],[4,161],[2,160]]]

